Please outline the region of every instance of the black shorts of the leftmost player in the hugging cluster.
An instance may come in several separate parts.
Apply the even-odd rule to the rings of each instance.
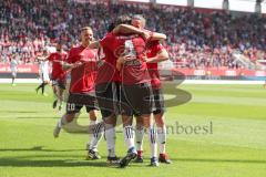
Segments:
[[[103,118],[120,114],[120,88],[119,82],[96,84],[96,100]]]

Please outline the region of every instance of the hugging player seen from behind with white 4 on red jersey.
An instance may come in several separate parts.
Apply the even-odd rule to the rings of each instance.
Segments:
[[[132,117],[133,114],[139,115],[143,122],[144,126],[147,129],[150,137],[151,146],[151,165],[157,166],[157,155],[156,155],[156,133],[152,126],[152,100],[151,100],[151,80],[147,71],[145,59],[145,45],[141,37],[126,35],[117,37],[116,41],[117,46],[124,45],[124,54],[126,58],[130,58],[130,61],[125,61],[121,67],[122,76],[122,103],[126,103],[130,106],[124,107],[121,105],[123,124],[124,124],[124,136],[126,139],[134,140],[133,127],[132,127]],[[116,46],[116,48],[117,48]],[[121,54],[119,54],[121,56]],[[127,146],[132,144],[132,147],[127,150],[127,155],[121,160],[121,166],[126,166],[129,159],[136,156],[136,149],[134,147],[134,142],[127,142]]]

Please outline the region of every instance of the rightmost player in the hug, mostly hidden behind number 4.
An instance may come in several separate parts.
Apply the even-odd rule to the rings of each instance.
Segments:
[[[135,14],[132,19],[132,25],[144,29],[145,28],[145,19],[140,15]],[[168,60],[168,53],[164,49],[164,46],[158,41],[151,41],[146,45],[146,63],[149,73],[151,76],[151,84],[152,84],[152,92],[153,92],[153,117],[155,119],[157,126],[157,142],[160,145],[160,157],[158,162],[171,164],[168,156],[165,152],[165,144],[166,144],[166,126],[164,121],[164,97],[162,92],[162,86],[160,82],[160,73],[157,70],[157,63]],[[136,148],[137,148],[137,157],[136,162],[142,163],[142,152],[143,152],[143,122],[142,118],[136,118]]]

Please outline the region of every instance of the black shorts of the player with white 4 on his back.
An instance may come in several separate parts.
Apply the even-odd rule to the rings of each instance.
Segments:
[[[141,116],[152,113],[152,90],[150,83],[123,85],[121,87],[121,114]]]

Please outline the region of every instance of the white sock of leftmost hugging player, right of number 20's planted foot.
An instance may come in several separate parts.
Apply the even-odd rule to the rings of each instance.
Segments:
[[[109,157],[115,157],[115,127],[112,124],[105,124],[105,138]]]

